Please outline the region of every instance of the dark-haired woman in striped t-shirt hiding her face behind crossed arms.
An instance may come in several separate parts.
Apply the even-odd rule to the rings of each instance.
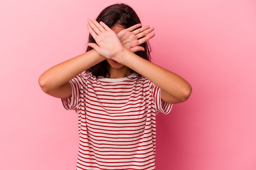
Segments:
[[[149,61],[154,28],[141,27],[128,5],[107,7],[87,26],[87,52],[39,77],[45,93],[78,114],[76,169],[154,170],[155,116],[186,101],[191,86]]]

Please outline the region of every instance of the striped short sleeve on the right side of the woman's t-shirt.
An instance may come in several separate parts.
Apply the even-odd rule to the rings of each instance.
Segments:
[[[155,102],[155,108],[157,110],[157,112],[161,112],[164,114],[168,114],[171,112],[171,109],[173,107],[173,104],[164,102],[161,99],[161,88],[159,88],[157,85],[153,84],[152,82],[150,82],[150,88],[152,91],[152,95],[154,98],[154,102]]]

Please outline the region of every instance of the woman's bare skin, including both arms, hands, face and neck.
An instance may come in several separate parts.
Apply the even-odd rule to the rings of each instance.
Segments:
[[[103,22],[90,19],[87,26],[98,45],[88,43],[93,50],[45,71],[38,80],[45,93],[58,98],[70,97],[72,88],[68,81],[91,66],[107,60],[111,76],[109,78],[125,77],[131,74],[132,69],[159,86],[162,89],[161,98],[165,102],[179,103],[189,98],[192,88],[185,79],[134,53],[144,50],[139,44],[155,36],[151,33],[153,27],[145,26],[133,31],[140,26],[136,24],[128,29],[119,25],[110,29]],[[145,35],[147,36],[144,37]]]

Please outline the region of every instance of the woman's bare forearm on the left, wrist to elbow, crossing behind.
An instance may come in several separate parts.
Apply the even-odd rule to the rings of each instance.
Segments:
[[[45,92],[55,90],[76,75],[105,59],[105,57],[99,55],[95,50],[88,51],[49,68],[39,77],[39,84]]]

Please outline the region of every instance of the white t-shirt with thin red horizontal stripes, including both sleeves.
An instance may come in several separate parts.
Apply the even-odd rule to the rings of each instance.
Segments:
[[[155,170],[158,112],[168,114],[161,89],[137,73],[110,79],[83,73],[70,80],[79,127],[77,170]]]

